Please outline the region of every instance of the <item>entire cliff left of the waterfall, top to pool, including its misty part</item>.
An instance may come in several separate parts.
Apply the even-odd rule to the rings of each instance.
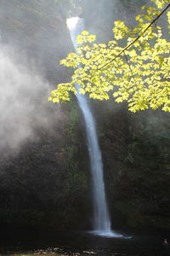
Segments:
[[[7,66],[4,61],[2,67],[16,67],[5,70],[8,87],[7,80],[1,81],[8,90],[3,90],[2,101],[9,90],[14,93],[6,105],[0,105],[1,111],[8,113],[1,119],[0,132],[1,225],[50,229],[86,226],[88,168],[83,160],[86,149],[77,139],[78,134],[84,137],[78,128],[77,111],[67,104],[48,102],[49,87],[54,89],[55,84],[70,77],[66,68],[59,67],[59,61],[73,50],[65,25],[69,2],[0,2],[0,44],[8,48],[3,55],[10,62]],[[25,69],[25,79],[37,79],[20,81]],[[20,141],[21,132],[26,136]]]

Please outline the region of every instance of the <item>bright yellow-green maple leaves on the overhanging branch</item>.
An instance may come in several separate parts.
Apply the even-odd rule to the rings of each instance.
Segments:
[[[142,7],[144,14],[136,16],[135,28],[115,21],[113,40],[107,44],[95,44],[96,37],[83,31],[77,37],[77,53],[60,61],[74,69],[71,82],[58,84],[49,101],[69,101],[71,93],[77,94],[74,84],[78,83],[80,93],[99,100],[113,96],[116,102],[127,101],[134,113],[147,108],[170,112],[170,43],[156,24],[161,15],[167,15],[169,32],[170,4],[169,0],[150,1],[155,7]]]

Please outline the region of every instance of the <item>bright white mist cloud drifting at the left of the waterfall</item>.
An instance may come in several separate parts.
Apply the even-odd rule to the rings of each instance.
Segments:
[[[11,47],[0,49],[0,149],[18,151],[36,139],[37,129],[52,127],[61,113],[48,102],[54,84],[38,73],[35,63],[29,67]]]

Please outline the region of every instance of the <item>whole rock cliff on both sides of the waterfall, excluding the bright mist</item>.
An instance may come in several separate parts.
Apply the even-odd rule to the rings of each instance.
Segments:
[[[57,3],[0,2],[1,44],[14,50],[16,62],[36,68],[53,89],[70,77],[58,62],[73,50],[65,26],[69,8]],[[78,11],[86,19],[86,29],[97,33],[99,41],[111,38],[113,20],[129,17],[132,25],[132,15],[144,4],[116,3],[81,2]],[[35,86],[31,84],[32,90]],[[62,107],[49,103],[44,90],[35,99],[38,104],[33,111],[41,122],[31,119],[34,136],[10,152],[1,148],[0,224],[89,229],[91,188],[82,114],[74,100]],[[132,114],[127,106],[114,102],[93,102],[92,106],[113,226],[170,229],[168,114]]]

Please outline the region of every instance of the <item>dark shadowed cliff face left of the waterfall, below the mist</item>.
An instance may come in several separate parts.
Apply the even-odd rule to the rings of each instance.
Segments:
[[[72,142],[74,133],[68,136],[69,120],[65,123],[68,126],[60,124],[57,132],[38,131],[37,139],[25,143],[19,154],[1,160],[1,225],[50,230],[86,227],[88,170],[78,160],[83,155],[77,156],[80,148]]]

